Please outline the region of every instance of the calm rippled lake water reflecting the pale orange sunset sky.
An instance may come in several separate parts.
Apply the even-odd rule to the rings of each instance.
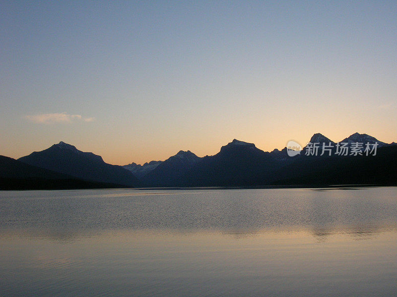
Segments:
[[[0,296],[396,296],[397,188],[0,191]]]

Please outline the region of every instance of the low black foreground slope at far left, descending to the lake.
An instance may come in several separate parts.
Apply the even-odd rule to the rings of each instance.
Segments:
[[[92,189],[120,185],[84,181],[0,155],[0,190]]]

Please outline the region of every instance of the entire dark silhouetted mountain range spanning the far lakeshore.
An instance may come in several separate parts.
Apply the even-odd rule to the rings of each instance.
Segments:
[[[212,156],[179,151],[165,161],[111,165],[92,152],[60,142],[18,160],[0,157],[0,189],[70,189],[115,187],[302,187],[328,185],[396,185],[397,144],[355,133],[341,143],[378,143],[376,155],[307,154],[308,146],[265,152],[234,139]],[[310,143],[335,146],[316,133]]]

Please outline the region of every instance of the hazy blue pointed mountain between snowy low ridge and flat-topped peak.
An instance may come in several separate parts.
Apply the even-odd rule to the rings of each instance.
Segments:
[[[201,158],[190,150],[180,150],[176,155],[161,162],[155,169],[143,177],[143,183],[149,187],[170,187],[176,184],[185,172],[190,170]]]

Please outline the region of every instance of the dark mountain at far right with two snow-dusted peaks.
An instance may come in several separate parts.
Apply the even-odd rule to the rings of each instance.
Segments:
[[[330,185],[330,184],[397,184],[397,148],[377,140],[367,134],[354,133],[339,143],[331,141],[329,152],[322,153],[322,143],[329,145],[329,140],[321,134],[315,134],[311,143],[320,143],[317,155],[307,155],[305,147],[300,155],[292,158],[290,163],[280,166],[274,171],[272,180],[278,185]],[[336,146],[348,143],[373,145],[378,143],[376,155],[337,155]],[[392,148],[387,148],[392,147]],[[393,149],[394,147],[394,149]],[[340,151],[340,148],[339,148]],[[278,180],[276,180],[278,179]]]

